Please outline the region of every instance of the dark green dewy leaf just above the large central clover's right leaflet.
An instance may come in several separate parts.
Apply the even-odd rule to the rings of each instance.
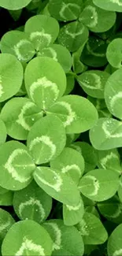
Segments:
[[[90,70],[77,76],[78,83],[83,91],[94,98],[104,98],[104,88],[108,78],[109,74],[100,70]]]

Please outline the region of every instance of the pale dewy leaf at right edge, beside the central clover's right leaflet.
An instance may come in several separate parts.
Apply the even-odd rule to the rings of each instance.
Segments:
[[[113,118],[100,118],[91,128],[90,139],[97,150],[122,147],[122,123]]]

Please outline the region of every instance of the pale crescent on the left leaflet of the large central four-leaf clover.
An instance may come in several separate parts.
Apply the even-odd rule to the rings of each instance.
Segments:
[[[17,119],[17,123],[20,124],[25,130],[30,131],[31,126],[26,123],[24,119],[24,114],[26,113],[26,110],[30,109],[31,107],[35,106],[33,102],[27,102],[21,109],[20,114]],[[42,112],[39,112],[39,114]]]

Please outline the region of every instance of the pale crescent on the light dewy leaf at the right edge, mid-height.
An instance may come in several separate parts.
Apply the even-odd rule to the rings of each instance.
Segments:
[[[107,138],[120,138],[120,137],[122,137],[122,132],[116,133],[116,134],[114,134],[114,135],[112,135],[112,134],[109,132],[108,128],[109,128],[109,125],[110,125],[111,123],[113,124],[112,121],[108,120],[108,121],[105,121],[105,122],[102,124],[102,129],[103,129],[103,131],[105,132],[106,137],[107,137]],[[120,125],[122,125],[122,124],[120,123]],[[120,125],[119,125],[119,126],[120,126]]]

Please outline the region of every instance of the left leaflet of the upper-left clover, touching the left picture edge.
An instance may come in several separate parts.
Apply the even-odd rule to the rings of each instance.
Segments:
[[[28,35],[16,30],[2,36],[0,49],[2,53],[15,55],[19,61],[30,61],[35,55],[35,48]]]

